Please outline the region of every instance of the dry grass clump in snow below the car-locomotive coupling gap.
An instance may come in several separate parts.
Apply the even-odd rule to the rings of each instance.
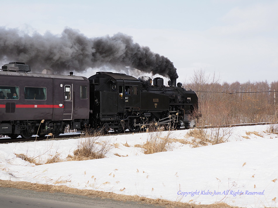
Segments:
[[[105,155],[113,148],[109,139],[97,142],[99,136],[82,138],[78,147],[74,150],[74,156],[68,155],[68,161],[93,160],[106,157]]]

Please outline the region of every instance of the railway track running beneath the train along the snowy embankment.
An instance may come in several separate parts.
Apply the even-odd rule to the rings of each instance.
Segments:
[[[225,125],[217,125],[217,126],[197,126],[194,128],[197,129],[212,129],[212,128],[225,128],[225,127],[236,127],[236,126],[256,126],[256,125],[266,125],[266,124],[278,124],[278,122],[260,122],[260,123],[249,123],[249,124],[225,124]],[[178,130],[184,130],[184,128],[178,129]],[[145,132],[145,131],[144,131]],[[137,132],[137,133],[143,133],[143,132]],[[133,133],[133,132],[129,132],[126,131],[125,133],[120,133],[117,134],[115,132],[109,132],[108,134],[104,135],[104,136],[108,136],[108,135],[122,135],[122,134],[137,134],[137,133]],[[28,142],[28,141],[43,141],[43,140],[63,140],[63,139],[70,139],[70,138],[76,138],[76,137],[80,137],[81,134],[71,134],[71,135],[61,135],[61,136],[56,136],[54,138],[52,138],[51,136],[48,137],[31,137],[29,139],[25,139],[25,138],[16,138],[16,139],[5,139],[5,137],[3,139],[0,138],[0,143],[13,143],[13,142]]]

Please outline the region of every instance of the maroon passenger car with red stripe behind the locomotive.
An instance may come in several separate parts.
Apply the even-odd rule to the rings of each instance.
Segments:
[[[30,138],[59,135],[66,126],[82,129],[89,118],[89,80],[28,71],[17,62],[0,71],[0,134]]]

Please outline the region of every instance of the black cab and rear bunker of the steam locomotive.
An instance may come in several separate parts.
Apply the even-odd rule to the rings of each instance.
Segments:
[[[140,110],[140,81],[122,73],[97,72],[90,80],[90,127],[121,131]]]

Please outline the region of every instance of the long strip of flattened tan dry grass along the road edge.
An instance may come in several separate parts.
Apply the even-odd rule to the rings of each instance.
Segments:
[[[57,181],[59,184],[59,181]],[[80,190],[77,188],[69,188],[67,186],[54,186],[54,185],[44,185],[38,183],[29,183],[24,181],[3,181],[0,180],[0,186],[4,187],[11,187],[11,188],[19,188],[19,189],[28,189],[34,191],[48,191],[51,193],[55,192],[62,192],[68,194],[76,194],[76,195],[83,195],[87,197],[102,197],[102,198],[110,198],[116,201],[132,201],[132,202],[140,202],[144,204],[152,204],[152,205],[159,205],[169,208],[174,207],[183,207],[183,208],[239,208],[234,206],[229,206],[225,203],[217,203],[217,204],[188,204],[182,202],[172,202],[164,199],[150,199],[146,197],[140,197],[137,195],[130,196],[130,195],[123,195],[123,194],[115,194],[112,192],[103,192],[103,191],[95,191],[95,190]]]

